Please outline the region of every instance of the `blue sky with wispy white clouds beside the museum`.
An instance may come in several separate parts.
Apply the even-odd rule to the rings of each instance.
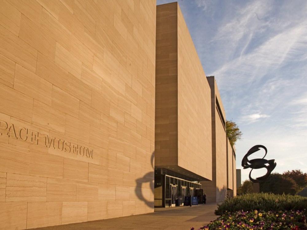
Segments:
[[[174,1],[157,0],[168,2]],[[216,77],[227,120],[243,132],[237,168],[252,146],[262,144],[266,159],[277,162],[275,172],[307,172],[307,1],[179,5],[206,75]],[[249,171],[242,170],[242,181]]]

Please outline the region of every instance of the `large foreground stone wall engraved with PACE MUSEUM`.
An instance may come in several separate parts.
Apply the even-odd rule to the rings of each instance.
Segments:
[[[153,212],[156,1],[0,14],[0,228]]]

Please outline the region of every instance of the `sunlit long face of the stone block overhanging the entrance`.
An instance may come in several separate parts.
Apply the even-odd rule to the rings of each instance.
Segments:
[[[178,165],[212,179],[210,86],[178,7]]]

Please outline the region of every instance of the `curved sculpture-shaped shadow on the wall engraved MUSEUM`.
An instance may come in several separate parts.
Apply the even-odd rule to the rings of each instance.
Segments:
[[[135,194],[138,197],[139,200],[144,201],[144,203],[150,207],[153,208],[154,207],[154,200],[150,201],[148,199],[146,199],[142,193],[142,184],[143,183],[147,183],[149,182],[150,184],[150,190],[151,193],[154,194],[154,151],[151,154],[151,158],[150,158],[150,162],[151,162],[151,167],[153,169],[153,171],[146,173],[143,177],[136,179],[136,187],[135,187]]]

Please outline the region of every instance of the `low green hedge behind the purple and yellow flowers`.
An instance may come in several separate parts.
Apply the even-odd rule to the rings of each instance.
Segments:
[[[250,193],[225,200],[218,205],[216,215],[235,211],[279,211],[304,210],[307,207],[307,197],[293,195],[276,195],[268,193]]]

